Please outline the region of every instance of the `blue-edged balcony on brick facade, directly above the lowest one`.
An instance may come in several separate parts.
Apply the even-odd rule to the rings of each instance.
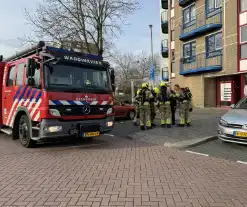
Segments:
[[[191,21],[180,23],[180,36],[179,39],[182,41],[189,40],[201,35],[205,35],[214,30],[218,30],[222,27],[222,11],[217,11],[205,14],[205,12],[191,17]]]

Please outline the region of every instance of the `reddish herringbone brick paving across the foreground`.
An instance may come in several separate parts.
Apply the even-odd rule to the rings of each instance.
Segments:
[[[0,206],[247,206],[247,166],[222,159],[117,137],[91,147],[8,149]]]

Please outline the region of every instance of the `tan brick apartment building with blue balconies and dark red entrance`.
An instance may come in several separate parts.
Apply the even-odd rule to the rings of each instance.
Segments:
[[[247,0],[168,0],[167,11],[172,85],[188,86],[197,107],[238,102],[247,85]]]

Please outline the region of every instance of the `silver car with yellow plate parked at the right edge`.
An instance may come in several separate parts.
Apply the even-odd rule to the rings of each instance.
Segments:
[[[247,144],[247,97],[221,117],[218,126],[218,138],[225,142]]]

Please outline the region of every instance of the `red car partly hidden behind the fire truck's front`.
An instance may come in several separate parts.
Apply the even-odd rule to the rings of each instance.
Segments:
[[[136,113],[136,107],[128,102],[115,102],[113,106],[115,118],[128,118],[133,120]]]

